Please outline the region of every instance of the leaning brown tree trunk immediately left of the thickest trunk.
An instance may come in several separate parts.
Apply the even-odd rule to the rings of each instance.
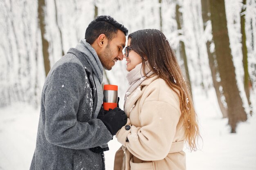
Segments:
[[[201,5],[202,5],[202,19],[203,19],[203,24],[204,24],[204,30],[206,29],[207,22],[210,20],[210,7],[209,7],[209,0],[201,0]],[[217,73],[218,73],[218,64],[216,63],[216,53],[210,51],[210,45],[211,45],[212,40],[207,40],[206,46],[207,46],[207,54],[209,58],[209,66],[211,69],[211,76],[213,80],[213,87],[216,92],[218,104],[220,106],[220,111],[222,113],[223,118],[227,118],[227,108],[224,106],[224,104],[221,101],[221,98],[223,96],[223,91],[220,92],[220,83],[217,81]]]

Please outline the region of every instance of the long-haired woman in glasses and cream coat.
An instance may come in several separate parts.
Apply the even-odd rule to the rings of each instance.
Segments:
[[[171,46],[156,29],[128,35],[126,126],[115,170],[185,170],[184,142],[196,150],[200,137],[191,96]]]

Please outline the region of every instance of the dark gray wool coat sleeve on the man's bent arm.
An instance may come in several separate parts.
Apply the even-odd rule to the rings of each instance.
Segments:
[[[99,119],[79,122],[76,113],[85,91],[82,65],[68,62],[58,66],[45,91],[45,137],[57,146],[86,149],[107,144],[112,135]],[[85,113],[86,114],[86,113]]]

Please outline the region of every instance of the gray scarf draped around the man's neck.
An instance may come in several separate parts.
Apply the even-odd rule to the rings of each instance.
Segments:
[[[97,91],[97,107],[95,109],[95,113],[93,118],[96,119],[99,110],[101,108],[102,102],[103,102],[103,91],[101,88],[101,84],[103,81],[103,66],[101,64],[101,61],[99,60],[99,57],[92,48],[92,46],[86,42],[85,39],[81,39],[80,42],[76,45],[76,49],[78,49],[83,55],[85,56],[86,60],[92,67],[92,75],[94,78],[95,86],[96,86],[96,91]]]

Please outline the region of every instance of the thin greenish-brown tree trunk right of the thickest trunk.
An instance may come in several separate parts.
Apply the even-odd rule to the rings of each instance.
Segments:
[[[240,23],[241,23],[241,33],[242,33],[242,51],[243,51],[243,66],[244,66],[244,88],[245,94],[247,97],[247,101],[249,106],[251,106],[250,102],[250,87],[252,86],[252,82],[248,72],[248,55],[247,55],[247,46],[246,46],[246,33],[245,33],[245,5],[246,0],[243,0],[243,7],[240,15]]]

